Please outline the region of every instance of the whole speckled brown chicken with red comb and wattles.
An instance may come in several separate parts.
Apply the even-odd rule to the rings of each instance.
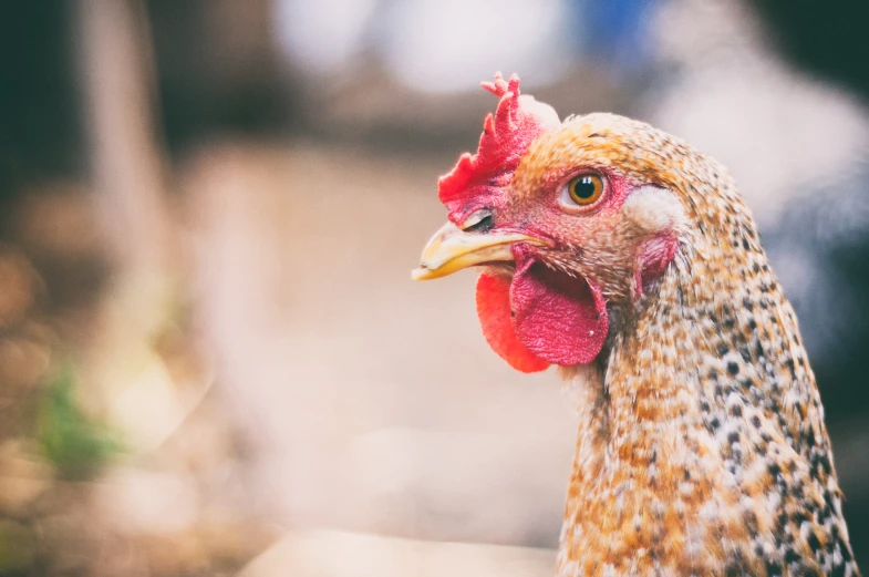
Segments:
[[[622,116],[561,122],[515,75],[484,87],[413,277],[478,267],[492,349],[577,391],[556,574],[858,576],[797,320],[724,167]]]

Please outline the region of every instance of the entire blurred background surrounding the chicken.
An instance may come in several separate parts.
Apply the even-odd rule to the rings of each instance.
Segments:
[[[0,575],[548,576],[575,441],[412,284],[496,70],[727,165],[869,563],[861,0],[0,6]]]

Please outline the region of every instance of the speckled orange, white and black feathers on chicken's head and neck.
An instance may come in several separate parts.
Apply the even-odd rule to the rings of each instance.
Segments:
[[[511,209],[576,166],[671,190],[684,221],[639,292],[613,248],[641,236],[630,219],[546,257],[606,287],[613,319],[596,364],[562,370],[580,425],[557,575],[859,575],[797,321],[726,171],[646,124],[579,116],[531,144]]]

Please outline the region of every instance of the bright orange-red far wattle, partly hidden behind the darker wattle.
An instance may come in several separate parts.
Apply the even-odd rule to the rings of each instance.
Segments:
[[[483,336],[489,347],[521,372],[539,372],[549,367],[545,360],[535,357],[516,337],[510,315],[510,280],[505,277],[486,275],[477,280],[477,316],[483,327]]]

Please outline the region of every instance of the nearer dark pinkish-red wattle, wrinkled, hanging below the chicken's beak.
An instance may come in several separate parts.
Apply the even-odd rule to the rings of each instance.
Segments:
[[[600,287],[552,270],[515,250],[510,284],[513,326],[518,340],[552,364],[588,364],[600,354],[609,330]]]

